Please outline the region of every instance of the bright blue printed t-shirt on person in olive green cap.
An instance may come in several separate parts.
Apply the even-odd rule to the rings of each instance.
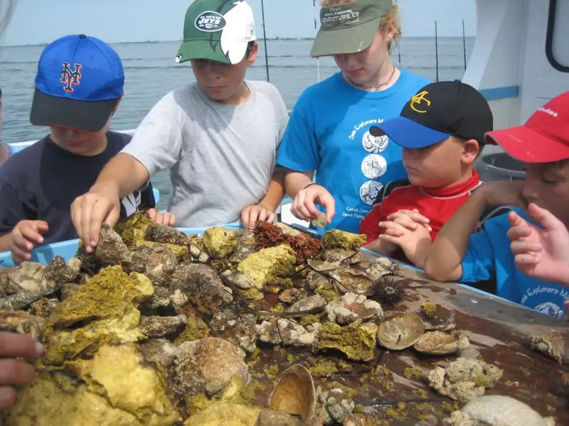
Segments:
[[[369,129],[399,116],[405,102],[429,82],[401,70],[392,87],[366,92],[338,72],[300,95],[277,163],[301,172],[316,170],[316,182],[336,201],[328,229],[358,232],[383,185],[407,176],[402,148],[387,136],[371,136]]]

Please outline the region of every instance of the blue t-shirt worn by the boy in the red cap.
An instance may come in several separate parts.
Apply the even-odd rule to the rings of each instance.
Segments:
[[[520,209],[515,211],[533,222]],[[509,228],[508,215],[502,214],[490,219],[482,231],[470,236],[467,253],[462,259],[461,283],[495,279],[496,294],[500,297],[563,318],[563,301],[569,300],[569,288],[528,277],[516,268],[506,235]]]

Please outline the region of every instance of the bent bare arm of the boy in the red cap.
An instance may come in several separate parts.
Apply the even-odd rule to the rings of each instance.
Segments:
[[[439,281],[462,278],[462,259],[467,253],[469,237],[486,206],[501,204],[526,207],[522,189],[523,182],[494,181],[474,191],[469,200],[442,226],[425,258],[425,273]]]

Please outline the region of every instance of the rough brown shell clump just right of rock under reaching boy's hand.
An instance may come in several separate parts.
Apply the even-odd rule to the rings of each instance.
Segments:
[[[161,244],[136,247],[131,251],[131,256],[131,260],[123,265],[124,272],[143,273],[152,284],[160,287],[169,284],[170,275],[178,266],[174,253]]]

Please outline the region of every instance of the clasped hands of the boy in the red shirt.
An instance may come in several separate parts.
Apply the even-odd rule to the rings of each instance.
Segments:
[[[399,210],[387,219],[389,220],[379,223],[379,226],[385,228],[379,239],[399,246],[415,266],[422,268],[432,244],[429,219],[417,209]]]

